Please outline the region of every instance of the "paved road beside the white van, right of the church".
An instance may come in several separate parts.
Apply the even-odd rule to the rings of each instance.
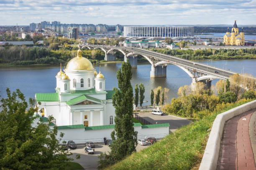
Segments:
[[[172,116],[164,114],[162,116],[160,115],[152,115],[151,112],[139,112],[138,116],[143,117],[148,122],[151,122],[152,124],[156,123],[169,123],[169,133],[174,133],[175,130],[178,128],[181,128],[184,125],[188,125],[192,121],[188,119],[184,119],[182,117]]]

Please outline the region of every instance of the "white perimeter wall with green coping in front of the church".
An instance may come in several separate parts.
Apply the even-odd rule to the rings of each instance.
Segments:
[[[74,140],[75,143],[85,143],[87,141],[103,143],[104,137],[111,139],[110,134],[113,130],[114,129],[84,130],[84,128],[61,129],[58,130],[58,136],[62,132],[64,133],[64,137],[61,141]],[[169,135],[169,127],[142,129],[141,126],[136,126],[134,130],[138,131],[138,139],[145,139],[145,137],[164,138],[166,135]]]

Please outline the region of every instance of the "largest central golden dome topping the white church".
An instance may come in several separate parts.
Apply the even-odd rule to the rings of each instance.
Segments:
[[[67,70],[92,70],[92,63],[87,59],[82,57],[82,51],[77,50],[77,57],[72,58],[67,63]]]

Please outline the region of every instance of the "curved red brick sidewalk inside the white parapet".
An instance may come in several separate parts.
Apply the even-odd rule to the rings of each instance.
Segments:
[[[253,154],[253,151],[256,153],[255,127],[255,109],[225,122],[217,170],[256,170]]]

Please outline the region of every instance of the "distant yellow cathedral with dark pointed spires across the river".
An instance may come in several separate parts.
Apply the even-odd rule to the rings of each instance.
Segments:
[[[235,23],[234,23],[233,28],[231,30],[231,34],[230,34],[229,28],[228,28],[228,31],[224,35],[224,41],[223,42],[224,42],[225,45],[244,45],[243,27],[242,27],[242,30],[239,34],[238,33],[238,27],[236,25],[236,20],[235,20]]]

